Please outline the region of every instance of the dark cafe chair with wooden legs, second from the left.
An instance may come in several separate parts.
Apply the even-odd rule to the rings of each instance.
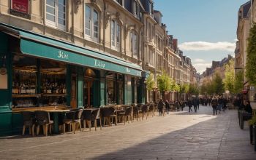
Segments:
[[[48,128],[52,130],[53,121],[50,120],[50,114],[47,111],[35,111],[36,124],[37,124],[37,135],[39,134],[39,127],[42,126],[43,134],[48,135]]]

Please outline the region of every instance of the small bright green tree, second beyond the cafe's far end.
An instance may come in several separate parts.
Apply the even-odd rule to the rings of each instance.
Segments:
[[[157,87],[160,92],[162,92],[162,96],[165,97],[165,92],[170,91],[172,86],[172,82],[170,77],[167,76],[165,71],[162,71],[162,74],[157,76]]]

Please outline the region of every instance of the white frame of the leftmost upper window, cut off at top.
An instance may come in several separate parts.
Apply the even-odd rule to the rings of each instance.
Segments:
[[[62,31],[66,31],[67,30],[67,0],[64,0],[65,2],[65,11],[64,11],[64,15],[65,15],[65,25],[61,25],[59,23],[59,0],[52,0],[55,3],[55,15],[53,15],[55,17],[55,22],[48,20],[47,19],[47,14],[52,15],[50,12],[47,12],[47,7],[52,7],[49,4],[47,4],[47,0],[45,0],[45,25],[48,25],[52,28],[56,28],[56,29],[60,29]]]

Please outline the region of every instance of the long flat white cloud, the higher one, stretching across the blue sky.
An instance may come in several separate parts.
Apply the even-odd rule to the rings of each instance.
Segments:
[[[211,43],[207,41],[190,41],[179,45],[179,48],[184,51],[209,51],[209,50],[225,50],[234,52],[236,42],[218,41]]]

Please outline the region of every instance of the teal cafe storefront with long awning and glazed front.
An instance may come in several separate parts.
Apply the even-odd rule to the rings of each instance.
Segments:
[[[24,110],[145,103],[138,65],[3,23],[0,41],[0,135]]]

